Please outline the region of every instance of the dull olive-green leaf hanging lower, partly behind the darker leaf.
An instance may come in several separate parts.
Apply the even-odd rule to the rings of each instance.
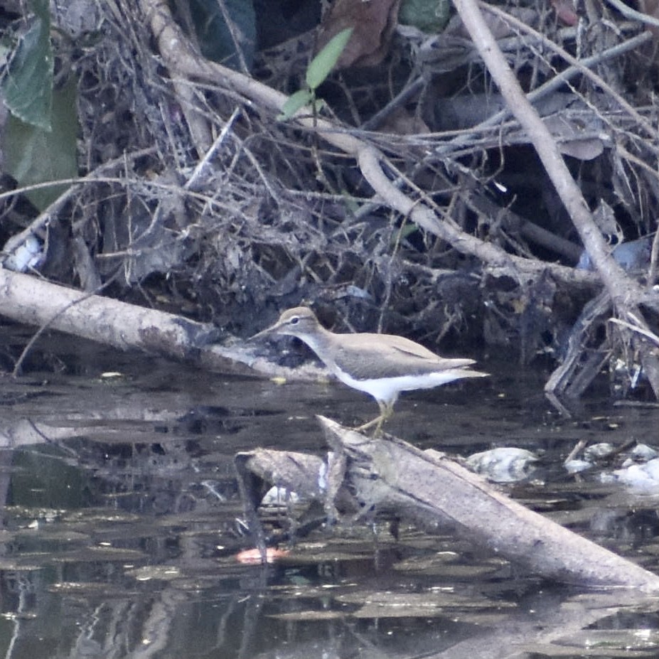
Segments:
[[[53,129],[46,131],[9,116],[2,136],[6,171],[21,186],[77,176],[75,78],[53,92]],[[43,210],[68,186],[55,185],[26,193],[28,199]]]

